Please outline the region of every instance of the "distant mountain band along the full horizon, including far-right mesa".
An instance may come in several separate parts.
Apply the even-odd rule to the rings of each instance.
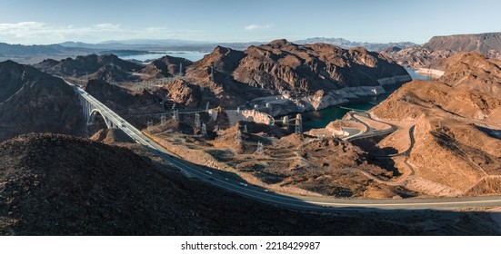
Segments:
[[[375,44],[351,42],[343,38],[313,37],[304,40],[292,42],[294,44],[333,44],[345,49],[361,46],[368,51],[385,52],[392,56],[398,63],[404,65],[407,62],[416,62],[414,60],[403,59],[407,54],[419,57],[424,55],[424,61],[418,61],[416,66],[429,64],[426,56],[432,53],[440,55],[450,55],[455,52],[473,51],[480,54],[486,54],[491,58],[497,58],[501,54],[501,33],[487,34],[459,34],[447,36],[435,36],[426,44],[418,45],[411,42]],[[87,54],[147,54],[149,51],[201,51],[212,52],[216,46],[223,46],[235,50],[245,50],[251,45],[262,45],[267,42],[248,42],[248,43],[213,43],[196,42],[187,40],[124,40],[124,41],[105,41],[99,44],[86,44],[82,42],[65,42],[61,44],[49,45],[21,45],[0,43],[0,61],[7,59],[15,60],[19,63],[35,64],[40,62],[40,58],[64,59],[66,57],[75,57],[76,55]],[[126,51],[126,52],[125,52]],[[135,52],[133,52],[135,51]],[[418,54],[414,53],[418,51]],[[448,52],[448,54],[446,54]],[[402,56],[403,55],[403,56]],[[402,58],[402,59],[401,59]],[[433,58],[433,57],[432,57]],[[42,60],[43,60],[42,59]],[[36,61],[35,61],[36,60]],[[426,61],[425,61],[426,60]],[[423,62],[423,63],[420,63]],[[426,63],[425,63],[426,62]]]

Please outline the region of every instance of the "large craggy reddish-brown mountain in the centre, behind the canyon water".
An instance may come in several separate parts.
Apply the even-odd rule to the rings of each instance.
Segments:
[[[342,89],[355,97],[354,93],[370,95],[372,89],[384,91],[384,84],[400,79],[410,80],[404,68],[364,48],[345,50],[331,44],[298,45],[286,40],[250,46],[243,52],[218,46],[188,66],[185,76],[185,81],[214,91],[225,107],[270,95],[316,94],[316,103],[311,99],[302,102],[301,107],[309,109],[339,103],[328,98],[342,99],[335,94]],[[370,89],[364,91],[364,87]]]

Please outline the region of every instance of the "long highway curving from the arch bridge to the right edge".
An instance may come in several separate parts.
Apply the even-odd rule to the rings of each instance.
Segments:
[[[168,161],[175,168],[183,171],[186,175],[209,182],[217,187],[254,200],[260,200],[266,203],[295,210],[315,210],[321,212],[336,210],[452,210],[459,208],[501,206],[501,196],[426,200],[341,200],[275,193],[261,187],[253,186],[244,181],[228,180],[223,174],[219,174],[216,170],[207,170],[202,166],[195,165],[189,161],[184,161],[176,157],[175,154],[166,151],[165,148],[150,140],[132,124],[126,122],[125,119],[106,107],[105,104],[97,101],[92,95],[86,93],[73,83],[68,84],[75,89],[76,93],[85,98],[85,100],[89,103],[93,103],[95,108],[97,108],[110,121],[114,122],[115,126],[118,126],[118,129],[124,131],[128,136],[135,140],[135,142],[142,144],[145,148],[152,151],[155,155],[165,161]]]

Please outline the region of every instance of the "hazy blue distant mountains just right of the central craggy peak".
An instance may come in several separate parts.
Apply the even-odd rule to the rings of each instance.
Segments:
[[[411,42],[400,42],[400,43],[387,43],[387,44],[376,44],[376,43],[361,43],[361,42],[351,42],[343,38],[326,38],[326,37],[314,37],[307,38],[304,40],[294,41],[295,44],[333,44],[342,48],[354,48],[354,47],[364,47],[369,51],[381,51],[389,47],[399,47],[405,48],[409,46],[416,45]]]

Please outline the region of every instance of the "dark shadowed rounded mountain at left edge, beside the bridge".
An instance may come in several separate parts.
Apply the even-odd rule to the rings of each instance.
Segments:
[[[28,132],[81,134],[75,92],[61,79],[12,61],[0,63],[0,141]]]

